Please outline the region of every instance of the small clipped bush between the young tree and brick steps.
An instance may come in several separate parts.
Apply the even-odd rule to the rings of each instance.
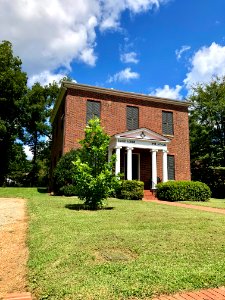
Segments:
[[[120,199],[141,200],[144,196],[144,183],[138,180],[121,180],[116,196]]]

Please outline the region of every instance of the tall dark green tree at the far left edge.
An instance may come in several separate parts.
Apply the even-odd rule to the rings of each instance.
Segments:
[[[26,93],[27,75],[22,62],[13,55],[12,44],[0,43],[0,186],[9,168],[9,156],[21,131],[22,99]]]

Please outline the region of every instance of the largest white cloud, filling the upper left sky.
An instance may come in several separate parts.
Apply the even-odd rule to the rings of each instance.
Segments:
[[[96,64],[96,29],[118,29],[125,10],[137,14],[168,0],[0,0],[0,41],[13,43],[29,76],[72,61]]]

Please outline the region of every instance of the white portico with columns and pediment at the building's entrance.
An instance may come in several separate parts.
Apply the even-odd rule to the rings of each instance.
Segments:
[[[140,152],[145,150],[151,156],[151,186],[150,188],[155,189],[157,184],[157,152],[162,152],[162,181],[166,182],[168,180],[168,170],[167,170],[167,144],[170,142],[169,139],[164,136],[153,132],[146,128],[139,128],[136,130],[131,130],[116,134],[111,138],[109,145],[109,158],[113,152],[116,153],[116,164],[115,164],[115,173],[118,174],[121,172],[121,162],[123,159],[121,153],[124,154],[123,171],[126,173],[126,179],[132,180],[132,171],[134,167],[137,169],[140,178],[141,168],[146,168],[148,166],[143,166],[141,164],[140,154],[137,156],[137,159],[134,161],[134,152]],[[137,150],[139,149],[139,150]],[[142,150],[140,150],[142,149]],[[136,150],[136,151],[135,151]],[[135,166],[132,164],[135,163]],[[136,178],[135,178],[136,179]]]

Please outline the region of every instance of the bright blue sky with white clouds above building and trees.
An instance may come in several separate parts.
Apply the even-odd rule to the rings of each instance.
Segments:
[[[225,75],[224,0],[0,0],[0,28],[30,85],[69,75],[183,99]]]

